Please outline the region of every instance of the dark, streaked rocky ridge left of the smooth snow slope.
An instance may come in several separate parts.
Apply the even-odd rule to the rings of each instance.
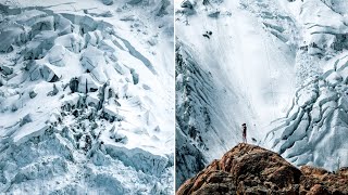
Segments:
[[[203,139],[211,126],[209,103],[213,91],[209,74],[199,68],[187,48],[176,42],[176,187],[207,161]],[[207,106],[203,106],[207,105]],[[202,122],[204,121],[204,122]]]

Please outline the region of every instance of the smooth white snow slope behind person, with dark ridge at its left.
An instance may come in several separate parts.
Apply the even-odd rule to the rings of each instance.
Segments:
[[[278,8],[269,1],[177,1],[176,187],[241,142],[241,123],[258,144],[269,122],[286,114],[299,35]]]

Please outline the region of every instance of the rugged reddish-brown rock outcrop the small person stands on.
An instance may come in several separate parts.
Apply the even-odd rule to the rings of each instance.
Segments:
[[[337,173],[310,166],[299,170],[276,153],[238,144],[176,194],[348,194],[347,173],[347,168]]]

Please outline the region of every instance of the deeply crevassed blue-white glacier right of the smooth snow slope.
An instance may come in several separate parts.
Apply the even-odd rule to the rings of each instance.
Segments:
[[[347,9],[343,1],[284,4],[303,31],[297,54],[301,84],[265,144],[297,166],[348,166]]]

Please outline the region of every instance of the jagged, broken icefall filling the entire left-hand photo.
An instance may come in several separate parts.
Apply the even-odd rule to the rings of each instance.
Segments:
[[[0,18],[0,192],[173,193],[173,4],[2,1]]]

